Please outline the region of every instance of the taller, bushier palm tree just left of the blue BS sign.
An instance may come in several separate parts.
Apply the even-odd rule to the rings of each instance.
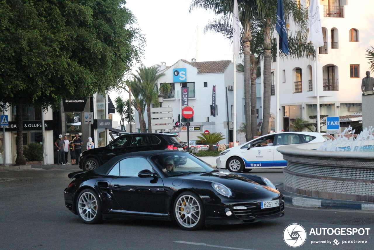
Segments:
[[[137,82],[141,85],[141,96],[144,99],[145,104],[147,105],[147,118],[148,118],[148,131],[152,131],[151,126],[151,104],[158,107],[159,102],[157,98],[157,81],[161,76],[164,76],[165,73],[159,73],[159,69],[155,66],[145,67],[140,66],[137,69],[137,74],[133,74],[134,78],[137,79]]]

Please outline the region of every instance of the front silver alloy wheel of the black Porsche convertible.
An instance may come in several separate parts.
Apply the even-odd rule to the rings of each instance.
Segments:
[[[192,228],[201,217],[199,202],[191,195],[181,196],[175,204],[175,216],[182,226]]]

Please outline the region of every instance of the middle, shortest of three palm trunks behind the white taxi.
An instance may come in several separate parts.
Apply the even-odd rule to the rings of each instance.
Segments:
[[[257,92],[256,92],[256,71],[257,71],[257,60],[255,56],[251,55],[251,132],[252,136],[257,135]]]

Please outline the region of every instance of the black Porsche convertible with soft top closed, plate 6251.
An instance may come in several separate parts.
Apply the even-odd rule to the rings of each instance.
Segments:
[[[187,152],[143,151],[68,175],[65,205],[88,224],[114,217],[175,220],[186,230],[284,215],[266,178],[220,172]]]

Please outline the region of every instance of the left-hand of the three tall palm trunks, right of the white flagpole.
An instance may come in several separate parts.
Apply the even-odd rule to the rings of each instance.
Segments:
[[[245,105],[245,139],[252,139],[251,132],[251,22],[246,21],[243,25],[244,32],[242,36],[244,50],[244,105]],[[234,65],[236,67],[236,65]],[[233,131],[236,133],[236,131]],[[234,142],[235,143],[235,142]]]

